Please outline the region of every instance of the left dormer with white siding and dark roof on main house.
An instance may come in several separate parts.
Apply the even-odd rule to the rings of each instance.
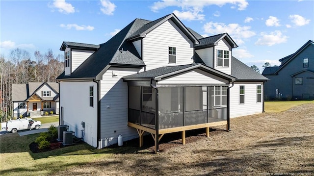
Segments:
[[[71,75],[81,63],[99,48],[99,45],[63,42],[60,50],[64,51],[65,75]]]

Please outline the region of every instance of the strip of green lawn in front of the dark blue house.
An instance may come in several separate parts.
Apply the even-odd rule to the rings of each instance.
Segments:
[[[305,103],[314,103],[314,101],[265,101],[265,112],[283,112]]]

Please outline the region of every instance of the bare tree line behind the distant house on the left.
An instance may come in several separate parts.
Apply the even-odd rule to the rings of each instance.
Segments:
[[[51,49],[33,55],[22,49],[11,50],[8,57],[0,55],[0,122],[10,119],[13,113],[12,84],[27,82],[54,82],[64,71],[63,55]]]

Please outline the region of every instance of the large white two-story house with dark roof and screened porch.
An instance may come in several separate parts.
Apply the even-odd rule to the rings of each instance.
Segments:
[[[263,112],[266,77],[232,57],[227,34],[203,38],[170,14],[135,19],[106,43],[63,42],[65,72],[57,77],[60,125],[102,148],[152,134],[210,126]],[[82,125],[84,124],[84,126]],[[136,129],[136,130],[135,130]],[[84,131],[84,135],[81,131]]]

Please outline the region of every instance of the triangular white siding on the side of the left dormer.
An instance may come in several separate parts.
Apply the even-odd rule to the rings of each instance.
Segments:
[[[72,50],[72,72],[74,72],[80,64],[82,64],[92,53],[90,50]]]

